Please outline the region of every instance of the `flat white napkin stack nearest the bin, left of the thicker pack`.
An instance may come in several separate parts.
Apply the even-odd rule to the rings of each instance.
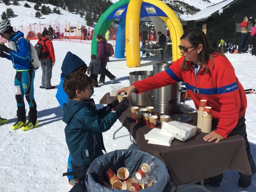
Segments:
[[[171,142],[172,140],[174,140],[174,137],[172,135],[165,133],[158,128],[152,129],[144,136],[145,140],[148,140],[148,143],[155,145],[171,146]]]

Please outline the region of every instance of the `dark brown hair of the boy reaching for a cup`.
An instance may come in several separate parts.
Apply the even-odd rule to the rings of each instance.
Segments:
[[[76,97],[76,90],[83,91],[88,85],[93,84],[93,79],[83,73],[72,72],[65,77],[63,82],[63,90],[70,99]]]

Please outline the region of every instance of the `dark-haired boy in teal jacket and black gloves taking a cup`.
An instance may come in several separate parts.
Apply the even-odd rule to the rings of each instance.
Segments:
[[[93,80],[85,74],[72,72],[63,82],[63,90],[69,98],[63,105],[63,121],[67,123],[65,136],[73,171],[79,183],[71,191],[85,189],[85,177],[93,160],[103,154],[101,133],[109,130],[128,108],[129,101],[117,99],[106,107],[96,110],[88,101],[93,88]],[[113,110],[111,110],[113,108]]]

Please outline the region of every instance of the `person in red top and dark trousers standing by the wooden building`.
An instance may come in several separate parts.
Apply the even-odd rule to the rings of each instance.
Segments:
[[[244,21],[240,24],[241,27],[241,39],[238,46],[238,53],[248,53],[247,45],[248,45],[248,25],[251,24],[248,21],[248,17],[244,17]]]

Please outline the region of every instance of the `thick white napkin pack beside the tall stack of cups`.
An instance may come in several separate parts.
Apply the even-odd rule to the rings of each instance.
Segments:
[[[163,132],[174,136],[176,139],[181,141],[186,141],[191,137],[195,136],[197,131],[197,126],[190,125],[187,123],[181,123],[178,121],[163,122],[162,123]]]

